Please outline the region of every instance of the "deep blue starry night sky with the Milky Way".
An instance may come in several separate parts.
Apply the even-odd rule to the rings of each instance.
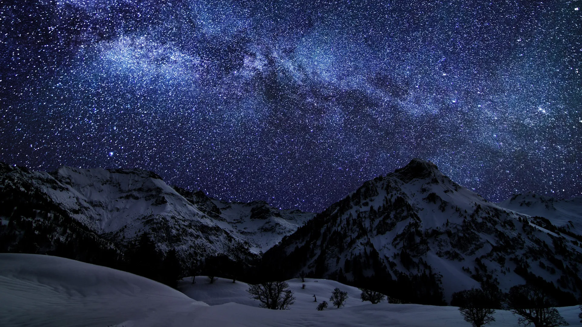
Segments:
[[[321,211],[411,158],[582,195],[582,0],[5,0],[0,161]]]

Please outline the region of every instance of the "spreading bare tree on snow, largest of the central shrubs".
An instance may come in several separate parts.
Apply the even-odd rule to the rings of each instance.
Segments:
[[[253,300],[260,301],[259,307],[273,310],[289,310],[295,303],[293,291],[286,282],[266,282],[250,285],[247,292]]]

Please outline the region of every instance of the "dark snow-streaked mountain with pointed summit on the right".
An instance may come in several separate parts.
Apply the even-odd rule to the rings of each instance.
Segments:
[[[531,220],[413,159],[365,182],[263,260],[282,266],[272,273],[372,283],[416,303],[442,303],[480,282],[506,292],[526,280],[575,300],[562,290],[580,295],[582,244]]]

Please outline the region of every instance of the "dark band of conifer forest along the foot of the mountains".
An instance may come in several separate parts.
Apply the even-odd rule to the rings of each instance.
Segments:
[[[172,287],[176,287],[183,276],[195,275],[228,276],[233,280],[243,279],[251,283],[285,280],[292,277],[297,266],[303,264],[300,257],[276,259],[274,255],[267,255],[255,265],[231,260],[226,255],[184,262],[184,258],[180,258],[175,250],[165,253],[159,250],[148,234],[142,234],[139,239],[122,248],[87,229],[45,194],[34,191],[34,188],[27,189],[26,185],[22,190],[0,190],[0,216],[9,217],[8,223],[0,224],[2,252],[58,255],[133,272]],[[558,243],[554,245],[560,248]],[[293,253],[299,252],[296,250]],[[400,260],[406,262],[406,252],[400,254]],[[364,250],[362,254],[345,262],[342,267],[345,271],[340,268],[336,275],[328,278],[388,294],[407,303],[446,304],[438,276],[430,269],[424,269],[420,275],[401,273],[393,279],[374,248]],[[316,264],[316,269],[308,276],[322,278],[322,265],[324,263]],[[540,276],[528,272],[527,265],[518,265],[515,270],[526,278],[527,283],[541,287],[558,299],[558,305],[577,303],[572,293],[564,292]],[[364,271],[373,271],[374,275],[365,276]],[[351,273],[353,280],[347,280],[345,273]]]

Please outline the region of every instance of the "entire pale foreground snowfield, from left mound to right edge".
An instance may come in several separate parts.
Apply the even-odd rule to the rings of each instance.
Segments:
[[[152,280],[83,262],[34,254],[0,254],[0,326],[470,326],[455,307],[365,304],[354,287],[331,280],[289,280],[297,297],[292,310],[257,308],[247,285],[200,276],[180,283],[183,293]],[[335,287],[350,296],[346,307],[316,311]],[[208,304],[196,301],[204,300]],[[560,308],[580,326],[578,307]],[[491,326],[515,326],[498,311]]]

